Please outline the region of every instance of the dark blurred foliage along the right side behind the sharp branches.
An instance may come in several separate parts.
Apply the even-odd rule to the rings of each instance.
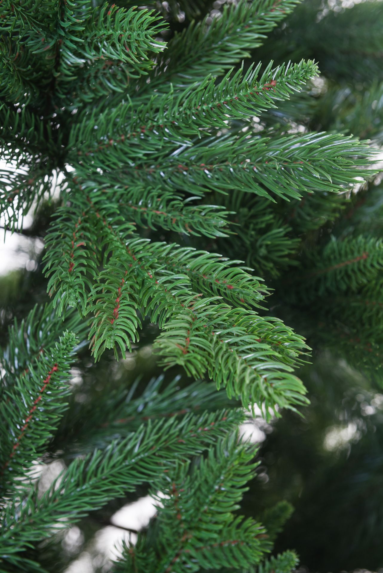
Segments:
[[[377,2],[298,7],[257,54],[275,53],[279,63],[304,53],[318,61],[321,81],[299,96],[296,113],[290,103],[268,112],[262,131],[342,131],[381,145],[382,14]],[[351,193],[314,193],[275,209],[300,246],[294,266],[267,283],[274,308],[314,348],[314,366],[300,371],[312,405],[306,421],[287,414],[276,422],[261,449],[268,481],[253,484],[245,504],[291,501],[276,549],[295,547],[310,571],[382,563],[380,181],[372,174]]]

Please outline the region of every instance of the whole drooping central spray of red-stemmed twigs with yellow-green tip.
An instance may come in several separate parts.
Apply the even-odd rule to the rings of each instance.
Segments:
[[[256,278],[230,268],[220,256],[139,239],[120,215],[107,225],[97,209],[103,207],[102,197],[93,193],[90,203],[77,197],[76,210],[62,208],[57,231],[47,239],[48,288],[57,289],[53,304],[60,300],[59,314],[70,303],[81,314],[95,316],[89,338],[96,359],[105,348],[119,347],[123,353],[131,348],[140,316],[150,316],[164,331],[155,348],[167,367],[181,364],[197,378],[208,372],[218,388],[226,386],[229,397],[241,397],[245,406],[257,403],[265,413],[275,404],[294,408],[304,403],[304,388],[290,374],[306,350],[303,340],[278,320],[220,301],[259,307],[265,289]],[[73,233],[67,231],[59,258],[62,235],[60,244],[54,241],[67,224]],[[97,275],[101,257],[105,269]],[[201,298],[205,293],[213,296]]]

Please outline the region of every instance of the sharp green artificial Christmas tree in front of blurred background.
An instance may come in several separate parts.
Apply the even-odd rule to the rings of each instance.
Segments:
[[[269,420],[308,403],[293,372],[309,348],[268,316],[263,278],[295,269],[300,235],[373,175],[366,142],[294,128],[285,102],[316,76],[314,61],[274,65],[270,50],[242,62],[295,6],[239,2],[205,17],[204,3],[0,5],[5,226],[17,230],[46,194],[57,203],[45,236],[52,302],[14,324],[1,359],[0,570],[41,571],[40,540],[142,484],[165,501],[111,571],[295,566],[292,552],[265,561],[286,507],[269,526],[265,513],[266,527],[234,513],[255,468],[236,433],[240,404]],[[343,253],[358,262],[346,278],[309,253],[304,284],[289,269],[288,304],[346,279],[358,293],[381,268],[371,241],[327,249],[325,269],[343,268]],[[118,386],[79,409],[68,370],[84,340],[94,365],[111,350],[125,359],[146,332],[159,366],[189,382]],[[41,492],[31,466],[58,456],[68,467]]]

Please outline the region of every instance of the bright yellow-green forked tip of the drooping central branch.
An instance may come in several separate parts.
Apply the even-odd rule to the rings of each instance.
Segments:
[[[180,364],[193,376],[203,376],[208,370],[229,398],[240,398],[244,407],[257,404],[266,419],[271,415],[269,409],[278,415],[277,405],[296,411],[295,406],[307,403],[302,382],[291,374],[291,365],[299,363],[305,349],[300,337],[282,321],[273,324],[275,319],[269,323],[256,313],[244,311],[241,316],[239,309],[225,312],[222,307],[209,316],[207,302],[200,300],[198,305],[202,311],[197,316],[179,312],[156,339],[154,347],[165,368]],[[282,350],[285,336],[288,347],[291,344],[286,354]]]

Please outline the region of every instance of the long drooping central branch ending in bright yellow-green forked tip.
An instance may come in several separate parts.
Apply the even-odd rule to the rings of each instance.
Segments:
[[[290,364],[295,363],[305,346],[299,336],[279,321],[272,325],[275,319],[268,323],[256,313],[231,311],[226,305],[216,304],[213,297],[200,298],[185,288],[182,275],[155,274],[153,265],[148,265],[142,257],[148,253],[143,250],[141,254],[136,249],[144,244],[142,240],[128,243],[131,262],[127,279],[141,277],[136,292],[143,312],[165,329],[155,348],[167,367],[181,364],[189,375],[196,377],[209,370],[218,387],[226,386],[229,397],[241,397],[245,406],[257,403],[267,417],[268,408],[274,409],[275,404],[294,409],[294,403],[305,402],[302,383],[290,374]],[[121,262],[115,262],[114,266],[123,268]],[[216,336],[217,330],[221,336]],[[241,355],[247,355],[247,359]]]

